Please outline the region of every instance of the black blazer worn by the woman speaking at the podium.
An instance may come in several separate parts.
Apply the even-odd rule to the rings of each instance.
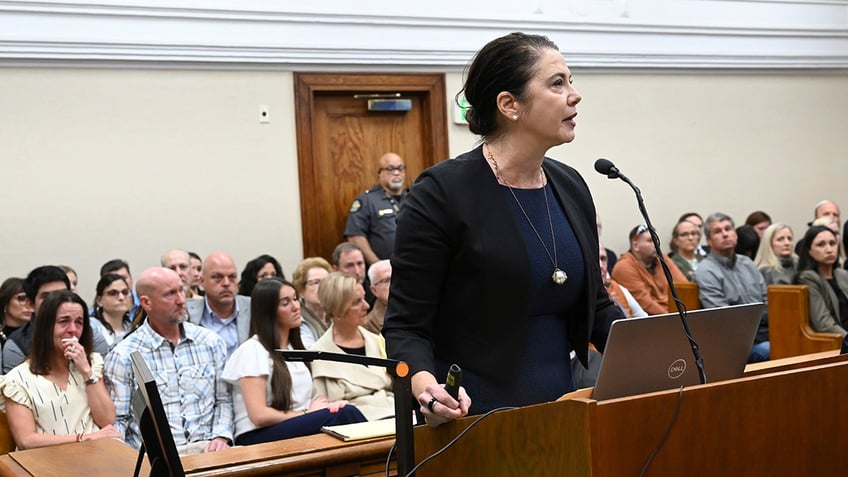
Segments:
[[[546,158],[542,166],[574,229],[583,296],[568,320],[571,347],[588,360],[623,318],[600,279],[595,207],[583,178]],[[510,379],[526,331],[530,266],[518,226],[482,146],[425,170],[397,217],[392,284],[383,335],[388,356],[411,373],[434,373],[434,356],[483,376]],[[568,353],[568,350],[563,350]]]

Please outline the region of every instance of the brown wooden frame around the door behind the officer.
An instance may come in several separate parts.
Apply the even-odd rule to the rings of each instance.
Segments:
[[[447,96],[444,73],[295,73],[295,130],[300,185],[300,218],[304,257],[320,255],[310,244],[317,243],[321,221],[307,211],[316,189],[313,170],[312,121],[314,98],[322,93],[418,93],[422,94],[424,120],[421,134],[425,146],[425,168],[450,154],[448,147]],[[429,140],[428,140],[429,138]],[[325,257],[329,259],[330,257]]]

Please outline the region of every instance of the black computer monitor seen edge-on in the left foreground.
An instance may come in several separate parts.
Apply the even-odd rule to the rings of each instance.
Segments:
[[[143,442],[138,454],[135,476],[138,477],[145,451],[150,462],[150,477],[185,477],[174,435],[165,415],[162,398],[153,373],[140,352],[130,354],[138,392],[133,393],[133,414]]]

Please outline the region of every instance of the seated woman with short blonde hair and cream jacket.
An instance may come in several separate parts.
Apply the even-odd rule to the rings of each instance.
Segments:
[[[386,342],[363,328],[368,303],[365,290],[353,275],[333,272],[318,290],[321,305],[332,324],[310,349],[331,353],[386,357]],[[315,361],[312,363],[313,394],[331,401],[345,400],[355,405],[368,420],[395,414],[392,377],[386,368],[351,363]]]

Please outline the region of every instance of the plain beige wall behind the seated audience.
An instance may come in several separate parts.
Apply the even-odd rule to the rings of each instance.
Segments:
[[[802,233],[820,199],[848,207],[848,73],[575,79],[578,138],[550,155],[586,177],[617,251],[641,219],[598,157],[642,188],[664,244],[688,210],[763,209]],[[461,75],[447,85],[452,100]],[[0,69],[0,275],[65,263],[90,300],[104,261],[138,274],[171,247],[225,250],[239,268],[270,253],[290,273],[303,250],[293,101],[289,72]],[[449,134],[452,155],[476,141]]]

